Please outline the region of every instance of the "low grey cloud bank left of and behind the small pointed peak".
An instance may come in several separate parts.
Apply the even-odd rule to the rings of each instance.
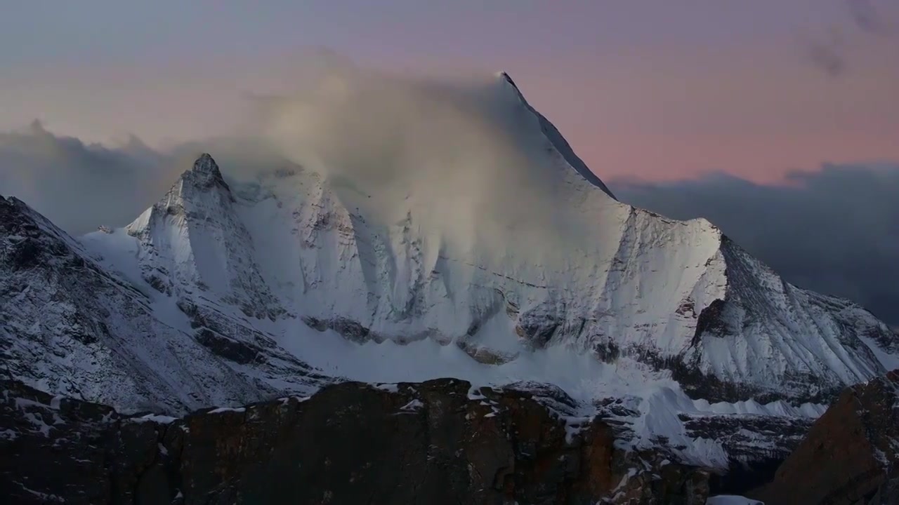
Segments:
[[[40,121],[0,131],[0,195],[15,197],[72,235],[125,226],[165,195],[202,152],[240,176],[276,169],[282,158],[253,138],[213,138],[155,150],[138,137],[120,146],[86,144]]]

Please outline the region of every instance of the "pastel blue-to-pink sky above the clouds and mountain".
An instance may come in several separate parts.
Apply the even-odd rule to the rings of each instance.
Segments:
[[[895,0],[0,0],[0,129],[151,145],[236,128],[303,58],[508,71],[592,170],[775,182],[899,160]]]

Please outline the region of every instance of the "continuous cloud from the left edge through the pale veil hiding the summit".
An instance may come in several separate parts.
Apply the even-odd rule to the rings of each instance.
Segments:
[[[86,145],[40,123],[0,134],[0,192],[82,234],[127,224],[206,151],[237,180],[285,163],[323,173],[344,205],[385,226],[413,208],[416,225],[446,247],[504,249],[510,234],[589,245],[579,241],[592,222],[557,205],[567,190],[557,162],[505,78],[316,63],[292,93],[251,97],[257,113],[233,137],[155,151],[134,137],[119,147]]]

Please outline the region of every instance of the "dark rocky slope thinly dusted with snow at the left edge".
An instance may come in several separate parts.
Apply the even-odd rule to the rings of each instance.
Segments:
[[[138,253],[123,233],[108,240],[120,256]],[[104,268],[17,199],[0,198],[0,251],[0,357],[8,377],[126,412],[185,412],[254,401],[285,381],[316,384],[292,356],[285,379],[273,359],[256,359],[253,373],[220,359],[185,332],[188,318],[174,300],[130,270]]]

